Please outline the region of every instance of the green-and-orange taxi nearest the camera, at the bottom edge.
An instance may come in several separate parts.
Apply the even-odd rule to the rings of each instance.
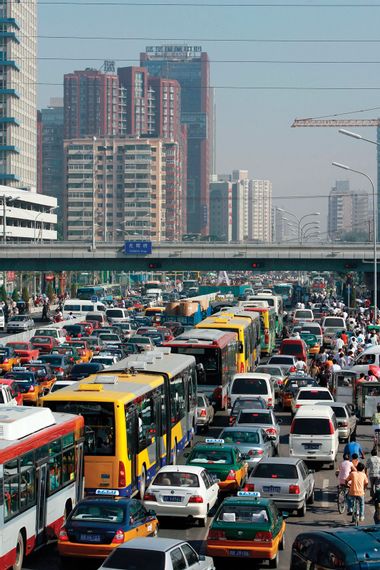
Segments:
[[[207,554],[268,560],[269,568],[278,568],[279,550],[285,548],[285,516],[260,493],[239,491],[217,510],[207,537]]]

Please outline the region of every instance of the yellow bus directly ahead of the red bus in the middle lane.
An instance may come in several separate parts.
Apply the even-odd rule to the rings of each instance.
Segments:
[[[207,317],[195,326],[197,329],[219,329],[235,332],[238,337],[237,355],[238,372],[250,372],[254,368],[252,347],[252,323],[240,317],[220,316]]]

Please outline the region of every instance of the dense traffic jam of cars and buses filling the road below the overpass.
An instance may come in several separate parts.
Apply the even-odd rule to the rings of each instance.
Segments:
[[[160,279],[4,323],[0,570],[380,569],[364,285]]]

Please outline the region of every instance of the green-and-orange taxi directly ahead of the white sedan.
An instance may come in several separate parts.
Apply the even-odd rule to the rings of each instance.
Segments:
[[[186,465],[205,467],[219,479],[221,491],[236,491],[245,484],[248,473],[246,457],[224,439],[206,439],[187,455]]]

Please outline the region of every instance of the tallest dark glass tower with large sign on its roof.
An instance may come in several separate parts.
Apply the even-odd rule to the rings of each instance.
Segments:
[[[181,121],[187,126],[187,232],[209,233],[209,181],[213,145],[210,63],[200,46],[147,47],[140,65],[150,76],[177,80]]]

